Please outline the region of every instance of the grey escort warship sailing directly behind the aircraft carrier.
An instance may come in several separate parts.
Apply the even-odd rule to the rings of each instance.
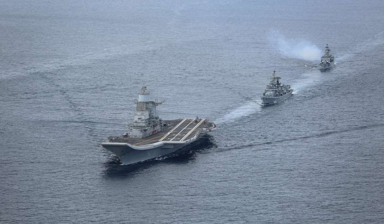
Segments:
[[[271,80],[263,93],[263,105],[277,103],[292,95],[293,89],[291,89],[291,86],[281,84],[279,81],[281,77],[275,76],[275,72],[273,71]]]

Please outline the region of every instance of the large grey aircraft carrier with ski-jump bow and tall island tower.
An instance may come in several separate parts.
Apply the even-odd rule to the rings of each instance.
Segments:
[[[163,120],[156,106],[164,100],[149,101],[149,95],[147,87],[143,86],[138,99],[134,100],[136,113],[133,123],[127,125],[128,131],[121,136],[109,136],[101,143],[119,156],[123,165],[173,153],[217,129],[213,121],[199,117]]]

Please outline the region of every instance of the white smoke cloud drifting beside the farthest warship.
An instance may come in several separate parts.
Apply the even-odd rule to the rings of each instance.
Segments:
[[[268,35],[271,44],[277,46],[281,54],[288,58],[298,58],[308,61],[320,60],[322,51],[307,40],[287,40],[284,35],[273,32]]]

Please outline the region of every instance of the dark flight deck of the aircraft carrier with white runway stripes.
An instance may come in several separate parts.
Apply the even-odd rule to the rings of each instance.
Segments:
[[[177,124],[179,124],[184,119],[175,119],[175,120],[166,120],[164,123],[166,123],[167,126],[164,127],[163,131],[159,131],[158,133],[152,134],[146,138],[127,138],[124,136],[119,136],[118,138],[115,138],[111,142],[119,142],[119,143],[129,143],[134,144],[137,146],[143,146],[148,144],[153,144],[156,142],[161,141],[180,141],[182,138],[184,138],[185,134],[189,133],[189,131],[194,128],[198,123],[194,123],[194,119],[185,119],[184,122],[182,122],[177,128]],[[191,123],[192,121],[192,123]],[[199,120],[200,121],[200,120]],[[207,122],[209,120],[203,121],[199,126],[195,128],[195,130],[187,136],[183,141],[187,141],[195,136],[195,133],[200,131],[203,128],[213,128],[214,124]],[[190,124],[190,125],[189,125]],[[174,129],[175,128],[175,129]],[[174,129],[171,133],[171,131]],[[166,134],[169,133],[167,136]],[[162,139],[164,136],[166,138]]]

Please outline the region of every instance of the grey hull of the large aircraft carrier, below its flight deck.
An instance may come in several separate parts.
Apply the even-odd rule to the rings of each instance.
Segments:
[[[204,134],[200,134],[199,137],[185,142],[163,141],[161,144],[158,144],[158,146],[149,146],[147,149],[143,147],[138,148],[128,143],[102,143],[102,145],[104,148],[116,154],[116,156],[119,156],[123,165],[129,165],[173,153],[197,141],[203,135]]]

